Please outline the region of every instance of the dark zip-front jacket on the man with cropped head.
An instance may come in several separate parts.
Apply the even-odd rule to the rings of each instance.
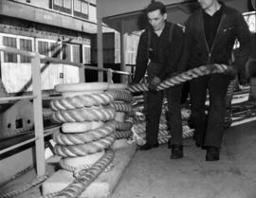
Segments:
[[[232,63],[236,70],[245,67],[250,54],[250,32],[241,13],[224,4],[223,15],[217,28],[211,48],[209,48],[204,31],[203,10],[192,13],[186,23],[185,45],[179,72],[207,63],[229,64],[235,40],[240,43],[238,56]]]

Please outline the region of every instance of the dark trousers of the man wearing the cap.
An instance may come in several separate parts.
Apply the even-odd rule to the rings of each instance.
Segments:
[[[169,108],[169,126],[171,130],[171,144],[182,144],[182,119],[181,119],[181,97],[182,86],[174,86],[166,89],[166,97]],[[147,110],[146,110],[146,141],[149,144],[156,144],[159,119],[162,111],[164,91],[147,92]]]

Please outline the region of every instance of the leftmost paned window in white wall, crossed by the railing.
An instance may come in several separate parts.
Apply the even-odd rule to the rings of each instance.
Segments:
[[[4,45],[5,46],[11,46],[17,48],[17,39],[12,37],[3,37]],[[4,62],[5,63],[17,63],[17,54],[12,54],[5,52],[4,53]]]

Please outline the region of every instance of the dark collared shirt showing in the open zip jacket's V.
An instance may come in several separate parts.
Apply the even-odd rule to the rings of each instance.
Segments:
[[[223,9],[221,7],[212,16],[210,16],[206,12],[203,12],[203,13],[204,13],[204,28],[205,28],[206,40],[209,48],[211,48],[216,35],[216,31],[220,24]]]

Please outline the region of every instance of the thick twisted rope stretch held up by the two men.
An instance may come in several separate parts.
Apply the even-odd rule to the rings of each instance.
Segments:
[[[228,70],[228,66],[225,64],[207,64],[202,65],[193,69],[190,69],[186,72],[178,74],[166,81],[162,81],[157,86],[156,90],[164,90],[176,84],[180,84],[184,81],[191,81],[192,79],[198,78],[200,76],[205,76],[209,74],[216,74],[216,73],[224,73]],[[131,85],[127,88],[128,91],[131,93],[133,92],[140,92],[140,91],[148,91],[148,84],[146,83],[138,83]]]

